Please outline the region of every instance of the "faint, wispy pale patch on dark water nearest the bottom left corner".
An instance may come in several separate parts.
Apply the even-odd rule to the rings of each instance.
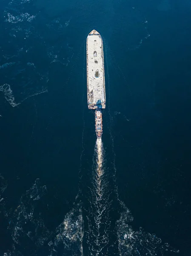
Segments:
[[[46,186],[40,186],[39,179],[20,198],[19,204],[9,216],[8,230],[11,232],[14,243],[20,244],[25,236],[28,236],[37,245],[43,245],[48,239],[49,231],[46,229],[39,214],[34,214],[36,198],[41,198],[47,192]],[[9,212],[10,215],[10,212]],[[43,234],[45,232],[45,234]],[[38,234],[42,233],[41,236]]]

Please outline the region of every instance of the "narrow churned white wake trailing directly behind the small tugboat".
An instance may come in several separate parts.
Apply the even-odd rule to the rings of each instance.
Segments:
[[[87,244],[88,255],[105,255],[109,241],[109,207],[111,201],[104,167],[104,148],[101,139],[97,139],[94,148],[94,166],[92,169],[92,188],[89,198]]]

